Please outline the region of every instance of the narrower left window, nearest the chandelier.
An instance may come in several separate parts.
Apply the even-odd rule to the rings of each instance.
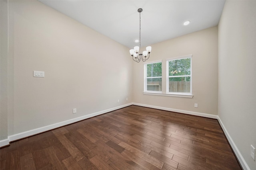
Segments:
[[[162,92],[162,61],[144,64],[144,92]]]

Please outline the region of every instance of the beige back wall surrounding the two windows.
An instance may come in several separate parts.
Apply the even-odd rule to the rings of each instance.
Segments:
[[[152,45],[148,61],[162,60],[162,91],[166,92],[166,59],[192,56],[193,98],[143,94],[144,63],[134,64],[133,99],[135,103],[198,113],[218,114],[218,27],[190,33]],[[194,107],[198,104],[198,108]]]

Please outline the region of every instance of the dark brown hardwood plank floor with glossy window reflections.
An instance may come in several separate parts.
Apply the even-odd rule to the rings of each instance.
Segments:
[[[241,170],[216,119],[129,106],[12,142],[1,170]]]

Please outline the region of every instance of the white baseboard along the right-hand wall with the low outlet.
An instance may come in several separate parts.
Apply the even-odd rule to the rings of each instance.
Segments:
[[[238,161],[240,162],[242,168],[244,170],[250,170],[250,167],[248,166],[248,164],[245,162],[242,154],[240,153],[240,151],[238,150],[238,148],[236,147],[236,144],[234,143],[233,139],[230,137],[226,127],[223,125],[220,117],[218,116],[218,121],[220,123],[220,126],[222,127],[222,130],[224,131],[226,138],[228,139],[228,142],[230,144],[230,146],[232,147],[236,157],[238,158]]]

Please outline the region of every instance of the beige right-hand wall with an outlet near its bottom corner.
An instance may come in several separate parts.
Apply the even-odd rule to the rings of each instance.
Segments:
[[[251,170],[256,162],[256,1],[226,1],[219,23],[218,113]]]

